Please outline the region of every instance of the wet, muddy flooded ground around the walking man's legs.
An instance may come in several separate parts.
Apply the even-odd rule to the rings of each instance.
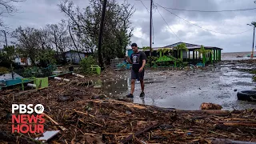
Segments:
[[[256,102],[238,101],[237,93],[255,88],[252,64],[220,62],[206,70],[146,70],[145,97],[140,98],[140,83],[136,82],[134,103],[180,110],[198,110],[202,102],[219,104],[224,110],[256,108]],[[97,82],[96,82],[97,84]],[[130,93],[130,71],[117,78],[98,82],[106,94],[125,97]]]

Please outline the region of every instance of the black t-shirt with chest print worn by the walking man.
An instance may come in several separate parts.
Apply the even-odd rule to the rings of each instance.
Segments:
[[[143,53],[142,51],[139,51],[136,54],[131,54],[130,55],[130,60],[133,62],[133,70],[134,72],[138,72],[138,70],[142,67],[142,60],[146,60],[146,54]]]

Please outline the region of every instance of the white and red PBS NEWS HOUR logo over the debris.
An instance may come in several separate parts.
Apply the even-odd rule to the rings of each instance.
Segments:
[[[12,132],[43,133],[43,123],[46,121],[42,104],[12,104]],[[18,111],[18,114],[15,112]],[[34,114],[35,113],[35,114]]]

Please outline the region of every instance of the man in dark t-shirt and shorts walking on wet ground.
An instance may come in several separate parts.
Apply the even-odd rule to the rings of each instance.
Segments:
[[[136,79],[138,79],[138,81],[141,82],[142,92],[140,94],[140,97],[144,97],[145,94],[143,80],[145,74],[144,67],[146,66],[146,54],[141,51],[138,51],[138,46],[136,43],[133,43],[131,45],[131,48],[133,49],[134,53],[130,55],[130,58],[126,58],[130,64],[133,64],[131,69],[131,88],[130,94],[126,95],[126,97],[134,98],[134,88]]]

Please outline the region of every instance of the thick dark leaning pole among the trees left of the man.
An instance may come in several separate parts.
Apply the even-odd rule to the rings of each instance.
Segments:
[[[106,12],[106,0],[104,0],[103,2],[101,26],[99,26],[99,34],[98,34],[98,62],[101,68],[104,67],[103,58],[102,58],[102,34],[103,34],[103,27],[104,27],[105,12]]]

